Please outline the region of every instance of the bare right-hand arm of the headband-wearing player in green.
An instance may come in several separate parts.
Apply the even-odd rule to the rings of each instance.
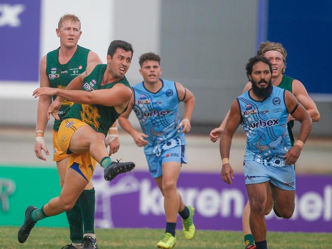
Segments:
[[[292,83],[293,94],[297,98],[298,102],[302,104],[309,116],[312,118],[313,122],[318,122],[320,115],[317,106],[313,99],[307,93],[303,84],[298,80],[293,80]]]

